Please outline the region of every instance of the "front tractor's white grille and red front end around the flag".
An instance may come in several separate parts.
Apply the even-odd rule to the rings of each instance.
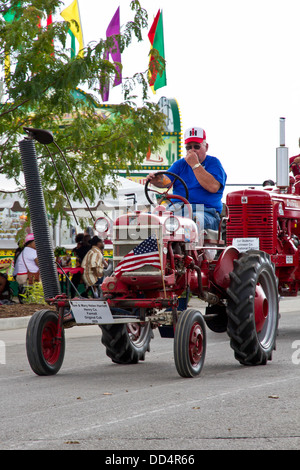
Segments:
[[[119,275],[104,279],[104,295],[136,297],[147,293],[148,298],[156,298],[179,296],[186,290],[187,282],[197,288],[197,272],[187,269],[194,263],[191,253],[198,242],[198,229],[190,218],[174,216],[164,206],[156,207],[152,213],[135,211],[115,221],[112,238],[114,271],[124,257],[125,264]],[[153,263],[140,266],[139,258],[135,258],[126,265],[126,255],[151,238],[157,241],[158,249]]]

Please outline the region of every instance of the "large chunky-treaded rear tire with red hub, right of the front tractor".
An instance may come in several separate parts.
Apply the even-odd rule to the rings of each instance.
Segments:
[[[248,251],[234,261],[227,305],[230,345],[244,365],[266,364],[276,346],[278,281],[267,253]]]

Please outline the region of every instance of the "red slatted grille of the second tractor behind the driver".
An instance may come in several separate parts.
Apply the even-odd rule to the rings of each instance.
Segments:
[[[228,208],[227,245],[233,238],[259,238],[259,249],[274,253],[272,204],[233,204]]]

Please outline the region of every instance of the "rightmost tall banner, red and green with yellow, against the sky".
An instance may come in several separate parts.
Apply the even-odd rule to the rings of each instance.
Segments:
[[[163,14],[162,10],[158,10],[156,17],[152,23],[152,26],[148,33],[148,38],[153,49],[156,49],[159,55],[165,58],[165,45],[164,45],[164,28],[163,28]],[[150,75],[150,87],[155,94],[156,90],[166,86],[167,77],[166,69],[162,75],[159,75],[157,68],[155,67],[155,59],[151,55],[149,63],[149,75]]]

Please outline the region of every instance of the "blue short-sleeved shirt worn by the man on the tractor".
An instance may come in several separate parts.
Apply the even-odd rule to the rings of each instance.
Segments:
[[[189,202],[191,204],[204,204],[205,207],[213,207],[216,211],[222,212],[222,197],[227,179],[224,168],[220,160],[211,155],[206,155],[202,166],[220,183],[220,189],[216,193],[210,193],[200,185],[194,171],[184,158],[174,162],[168,171],[180,176],[186,183],[189,190]],[[173,181],[174,178],[172,178],[172,176],[168,177]],[[174,183],[173,193],[185,197],[184,187],[178,180]]]

